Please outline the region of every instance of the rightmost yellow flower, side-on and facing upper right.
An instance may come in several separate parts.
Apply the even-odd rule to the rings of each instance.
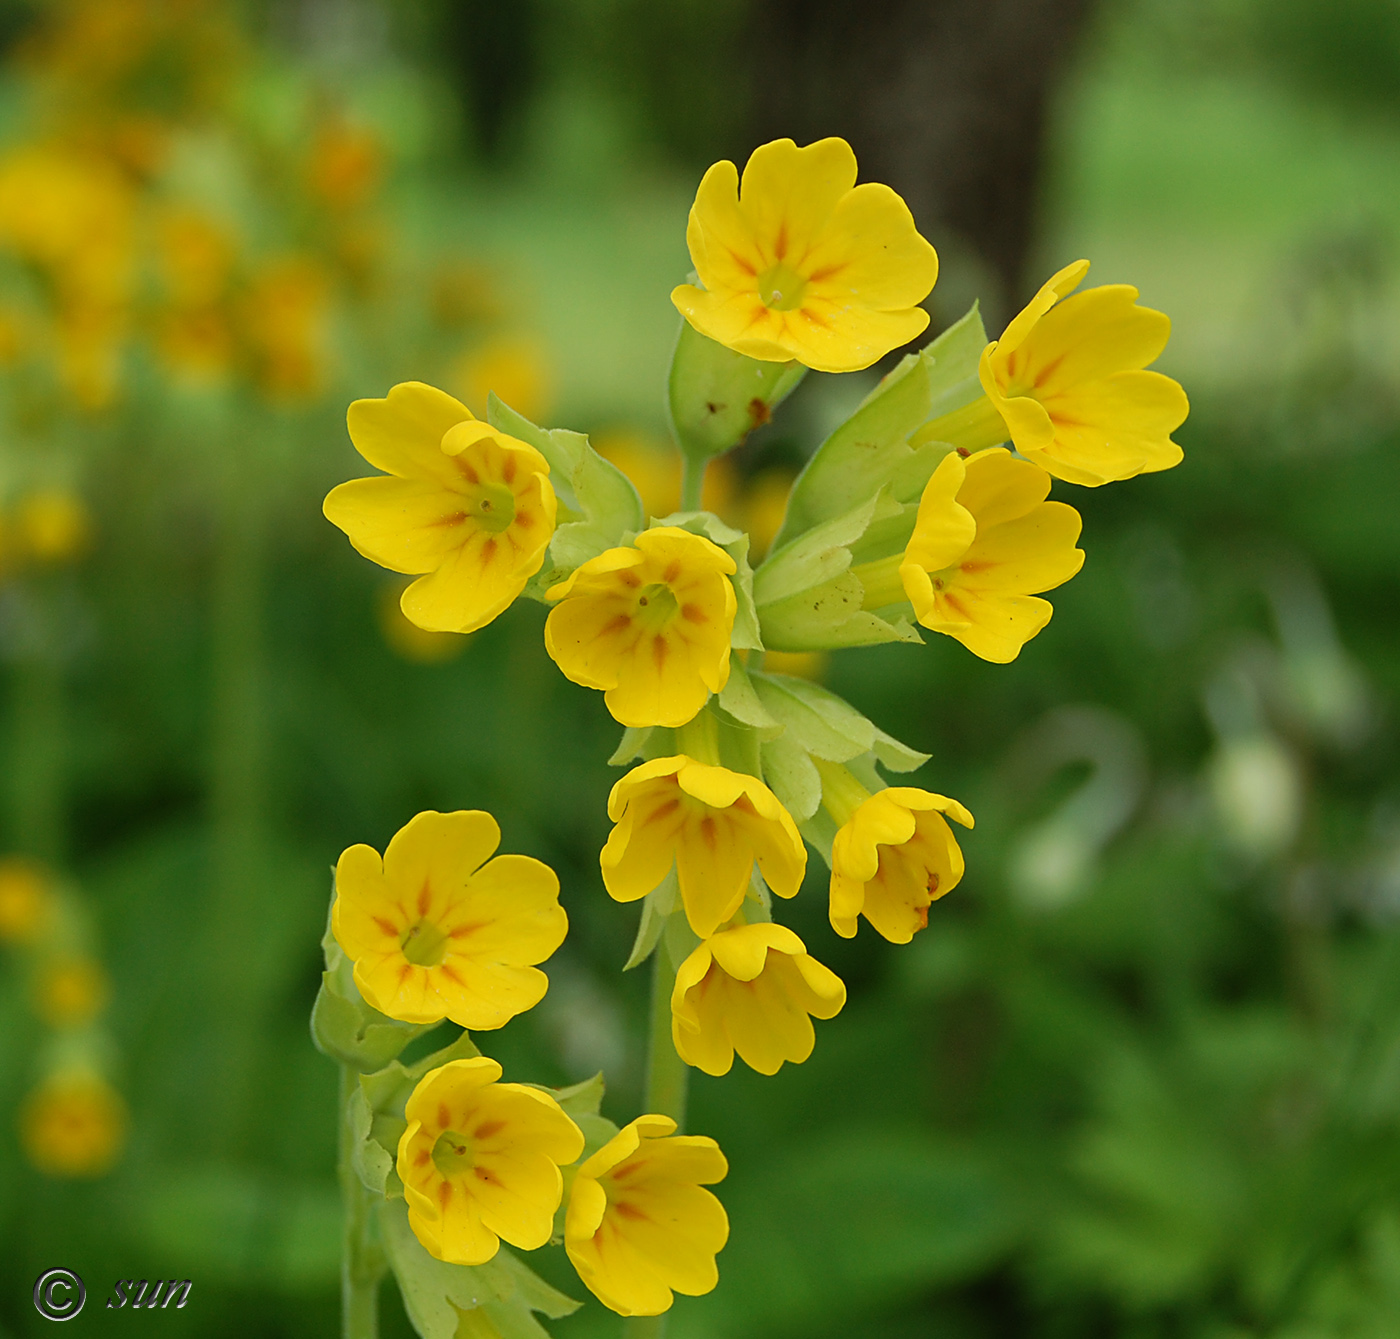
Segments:
[[[1166,347],[1170,319],[1135,305],[1128,284],[1065,297],[1088,269],[1075,261],[1050,279],[987,345],[979,374],[1016,450],[1092,487],[1179,464],[1172,431],[1190,406],[1170,377],[1142,370]]]

